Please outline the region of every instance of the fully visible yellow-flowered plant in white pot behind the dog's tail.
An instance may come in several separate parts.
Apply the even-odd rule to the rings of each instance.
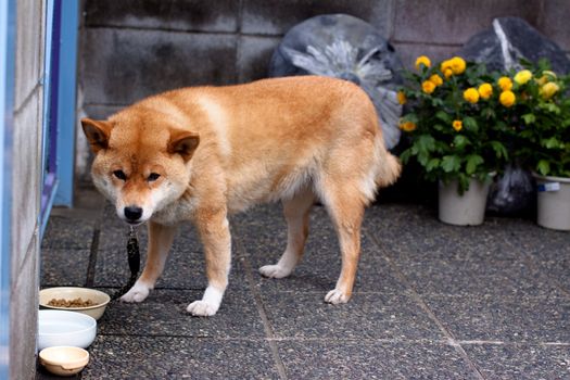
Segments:
[[[409,145],[402,162],[417,163],[426,179],[440,183],[442,221],[483,223],[489,185],[509,159],[503,143],[509,126],[497,110],[514,105],[511,94],[484,65],[458,56],[431,65],[422,55],[405,77],[400,126]]]

